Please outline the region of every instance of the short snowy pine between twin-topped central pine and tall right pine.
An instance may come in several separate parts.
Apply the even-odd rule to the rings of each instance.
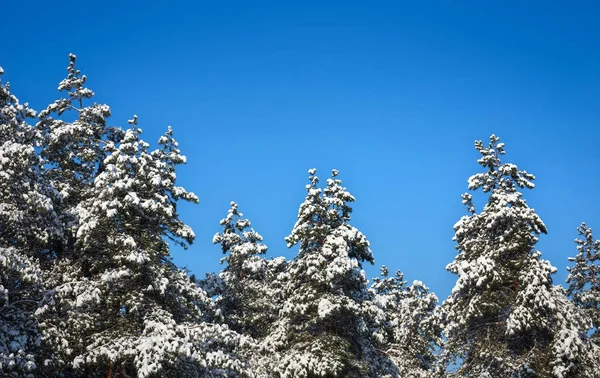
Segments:
[[[436,349],[442,345],[437,313],[438,298],[421,281],[407,285],[397,271],[389,277],[387,267],[373,280],[371,290],[380,313],[376,319],[374,340],[385,351],[392,365],[381,363],[377,376],[432,377]]]

